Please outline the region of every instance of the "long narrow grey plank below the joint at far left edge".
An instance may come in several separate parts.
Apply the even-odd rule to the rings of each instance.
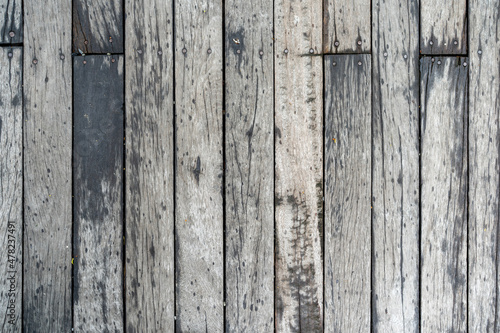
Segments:
[[[22,49],[0,49],[0,331],[21,331],[23,204]]]

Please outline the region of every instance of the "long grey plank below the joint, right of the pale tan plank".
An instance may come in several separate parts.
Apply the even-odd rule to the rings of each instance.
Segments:
[[[325,59],[325,332],[369,332],[371,57]]]

